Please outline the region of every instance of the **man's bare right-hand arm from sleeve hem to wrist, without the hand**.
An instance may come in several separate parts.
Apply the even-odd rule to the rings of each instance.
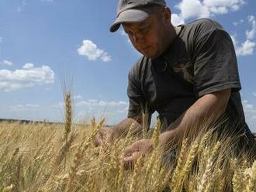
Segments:
[[[223,114],[227,108],[229,98],[230,89],[205,94],[202,98],[199,98],[184,114],[170,125],[170,131],[163,132],[160,135],[161,145],[166,145],[173,139],[181,139],[185,132],[192,131],[195,134],[199,133],[199,125],[206,122],[209,118],[211,121],[216,121]],[[192,125],[193,123],[197,124],[193,127],[195,129],[187,130],[188,125]]]

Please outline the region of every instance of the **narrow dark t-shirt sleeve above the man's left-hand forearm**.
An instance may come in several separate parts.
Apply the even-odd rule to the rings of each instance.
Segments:
[[[130,70],[128,75],[127,95],[129,98],[129,109],[127,117],[133,118],[137,115],[140,115],[144,110],[146,100],[141,90],[138,77],[136,77],[136,74],[133,70]]]

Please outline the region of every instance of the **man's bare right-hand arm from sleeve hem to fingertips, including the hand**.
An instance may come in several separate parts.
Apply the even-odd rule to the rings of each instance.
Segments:
[[[181,115],[173,124],[171,124],[172,130],[164,132],[160,135],[160,145],[168,147],[168,144],[172,142],[178,142],[185,132],[192,131],[194,134],[199,132],[199,124],[204,122],[207,118],[216,120],[223,114],[227,108],[227,102],[230,98],[230,89],[224,91],[217,91],[211,94],[206,94],[195,101],[195,103]],[[195,121],[196,119],[196,121]],[[195,125],[195,129],[187,130],[187,125]],[[191,128],[191,127],[190,127]],[[153,149],[152,139],[143,139],[137,142],[133,142],[132,145],[126,147],[125,156],[123,157],[126,166],[133,164],[144,153]]]

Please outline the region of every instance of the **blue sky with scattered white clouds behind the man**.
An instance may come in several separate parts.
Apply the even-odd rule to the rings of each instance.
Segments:
[[[64,119],[61,82],[71,84],[74,119],[126,117],[127,74],[140,57],[120,29],[117,1],[0,0],[0,118]],[[256,9],[247,0],[167,1],[172,22],[211,18],[237,51],[247,123],[256,132]]]

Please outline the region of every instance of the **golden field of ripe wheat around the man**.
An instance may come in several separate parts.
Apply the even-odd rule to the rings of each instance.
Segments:
[[[70,97],[64,124],[0,123],[0,191],[256,191],[256,159],[234,156],[234,138],[209,130],[162,149],[157,122],[143,136],[129,131],[95,147],[104,120],[72,124]],[[153,152],[126,169],[124,149],[146,138]]]

